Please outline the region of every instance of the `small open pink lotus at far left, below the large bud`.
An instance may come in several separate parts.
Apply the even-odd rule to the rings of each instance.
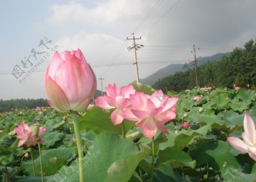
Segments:
[[[46,131],[46,128],[44,127],[39,127],[38,131],[31,130],[32,127],[38,126],[39,123],[36,122],[33,125],[28,126],[25,123],[20,123],[18,127],[14,128],[14,131],[17,133],[17,138],[20,140],[18,143],[18,147],[22,146],[24,143],[27,144],[27,147],[29,146],[35,146],[36,142],[41,141],[43,142],[44,140],[39,137],[39,135],[43,134]]]

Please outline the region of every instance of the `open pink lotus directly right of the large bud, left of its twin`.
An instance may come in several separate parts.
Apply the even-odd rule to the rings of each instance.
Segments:
[[[136,91],[133,85],[123,86],[118,88],[117,85],[108,85],[106,87],[106,95],[97,97],[95,103],[102,109],[113,109],[110,118],[114,125],[122,123],[122,111],[130,107],[131,102],[129,100],[130,94],[134,94]]]

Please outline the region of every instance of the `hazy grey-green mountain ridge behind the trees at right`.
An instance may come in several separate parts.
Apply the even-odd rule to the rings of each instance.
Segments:
[[[226,53],[217,53],[209,57],[198,57],[197,65],[203,65],[207,63],[207,61],[216,61],[220,59],[222,56],[229,55],[229,54],[230,52],[226,52]],[[159,69],[152,75],[146,78],[140,79],[139,82],[141,82],[142,84],[153,85],[156,81],[158,81],[159,78],[172,75],[176,72],[186,71],[187,69],[193,69],[193,65],[192,64],[170,64],[167,67]]]

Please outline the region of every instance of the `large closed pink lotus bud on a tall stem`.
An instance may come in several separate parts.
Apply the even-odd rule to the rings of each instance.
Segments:
[[[49,105],[59,111],[85,111],[96,91],[96,76],[80,49],[55,52],[44,77]]]

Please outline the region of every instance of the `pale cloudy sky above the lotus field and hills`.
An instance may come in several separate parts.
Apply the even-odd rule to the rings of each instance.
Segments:
[[[51,39],[47,45],[57,45],[59,52],[80,48],[97,78],[105,78],[104,87],[123,86],[136,80],[134,52],[126,49],[132,42],[125,40],[132,32],[142,36],[137,43],[144,45],[138,61],[155,63],[139,64],[144,78],[193,59],[193,44],[200,47],[198,56],[211,56],[255,40],[255,9],[250,0],[1,1],[0,98],[47,98],[43,79],[51,56],[22,84],[11,74],[32,48],[47,51],[38,46],[42,39]],[[130,64],[104,66],[124,63]]]

